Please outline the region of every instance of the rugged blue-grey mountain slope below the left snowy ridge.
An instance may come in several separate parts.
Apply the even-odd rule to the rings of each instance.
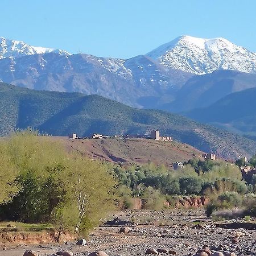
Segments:
[[[37,90],[99,94],[139,108],[171,102],[191,76],[164,68],[143,55],[122,60],[46,53],[0,60],[0,80],[7,83]]]

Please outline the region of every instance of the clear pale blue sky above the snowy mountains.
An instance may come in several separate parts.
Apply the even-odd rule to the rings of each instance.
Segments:
[[[180,35],[256,52],[255,0],[2,0],[0,36],[104,57],[144,54]]]

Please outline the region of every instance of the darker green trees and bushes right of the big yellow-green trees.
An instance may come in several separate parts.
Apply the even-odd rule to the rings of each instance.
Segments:
[[[149,208],[162,208],[164,201],[174,203],[174,196],[207,195],[215,200],[226,192],[237,192],[241,197],[255,192],[255,184],[242,181],[237,166],[224,161],[191,159],[180,170],[168,170],[164,166],[115,166],[119,181],[119,196],[129,205],[130,198],[142,197]]]

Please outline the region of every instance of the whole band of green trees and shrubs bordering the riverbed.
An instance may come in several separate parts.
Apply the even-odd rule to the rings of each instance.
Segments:
[[[152,163],[122,167],[67,153],[61,143],[30,129],[2,139],[0,152],[0,218],[52,222],[59,234],[88,232],[115,205],[129,208],[133,197],[162,209],[174,196],[207,195],[209,214],[256,198],[256,179],[246,184],[240,169],[222,160],[193,158],[176,171]]]

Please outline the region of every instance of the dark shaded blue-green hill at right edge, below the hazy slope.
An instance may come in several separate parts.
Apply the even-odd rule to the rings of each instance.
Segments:
[[[256,138],[255,97],[256,88],[242,90],[186,115],[200,122]]]

